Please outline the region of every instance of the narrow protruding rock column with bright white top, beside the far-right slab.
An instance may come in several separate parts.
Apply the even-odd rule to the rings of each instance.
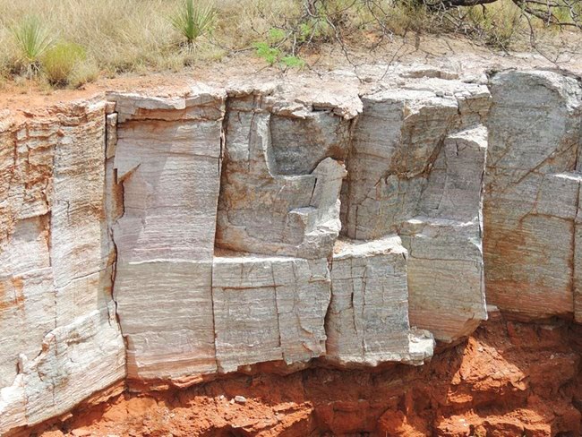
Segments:
[[[487,131],[450,134],[419,200],[400,227],[408,249],[410,323],[450,341],[487,319],[481,205]]]

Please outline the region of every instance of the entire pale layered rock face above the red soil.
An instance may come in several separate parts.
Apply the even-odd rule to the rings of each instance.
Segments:
[[[581,99],[346,76],[4,117],[0,433],[125,377],[423,364],[485,299],[582,319]]]

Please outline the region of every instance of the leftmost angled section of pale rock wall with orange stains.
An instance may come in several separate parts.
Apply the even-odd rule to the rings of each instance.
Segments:
[[[3,124],[0,433],[125,376],[112,300],[105,103]]]

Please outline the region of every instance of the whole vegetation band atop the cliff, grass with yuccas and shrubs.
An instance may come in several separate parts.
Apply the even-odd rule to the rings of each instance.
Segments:
[[[98,76],[181,71],[239,51],[266,65],[301,68],[306,53],[337,47],[338,35],[364,53],[370,41],[415,32],[462,33],[504,49],[527,40],[528,25],[510,0],[448,17],[411,0],[321,0],[309,15],[301,0],[203,2],[0,0],[0,77],[71,87]]]

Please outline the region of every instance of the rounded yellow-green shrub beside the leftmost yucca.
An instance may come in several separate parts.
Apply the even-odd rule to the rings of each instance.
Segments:
[[[61,41],[42,56],[42,71],[51,85],[65,85],[75,67],[86,59],[85,49],[78,44]]]

